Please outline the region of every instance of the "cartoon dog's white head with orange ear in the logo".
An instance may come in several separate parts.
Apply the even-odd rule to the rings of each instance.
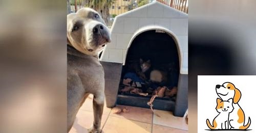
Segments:
[[[233,98],[233,103],[238,103],[241,98],[241,92],[230,82],[216,85],[216,92],[223,100]]]

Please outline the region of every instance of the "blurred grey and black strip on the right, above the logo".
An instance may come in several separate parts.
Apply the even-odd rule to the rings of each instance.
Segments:
[[[197,132],[197,75],[256,74],[255,6],[254,0],[189,1],[189,132]]]

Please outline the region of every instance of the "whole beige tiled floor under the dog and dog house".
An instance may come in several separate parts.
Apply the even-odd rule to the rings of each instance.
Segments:
[[[90,95],[80,108],[70,133],[87,132],[93,123],[92,98]],[[129,109],[129,113],[115,114],[109,108],[104,107],[101,129],[102,133],[125,132],[188,132],[188,125],[182,117],[173,116],[172,112],[117,105],[123,109]]]

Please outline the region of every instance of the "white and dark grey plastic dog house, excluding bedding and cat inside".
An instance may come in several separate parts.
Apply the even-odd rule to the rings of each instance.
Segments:
[[[153,2],[116,16],[111,29],[112,42],[100,57],[105,71],[107,107],[116,104],[150,108],[151,96],[121,93],[120,85],[131,61],[151,60],[152,67],[172,64],[176,72],[167,76],[177,86],[175,97],[156,98],[154,109],[173,111],[183,116],[187,110],[187,14]],[[173,70],[173,69],[172,69]]]

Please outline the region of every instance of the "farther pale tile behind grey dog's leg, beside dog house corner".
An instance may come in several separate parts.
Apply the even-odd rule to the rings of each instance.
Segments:
[[[80,110],[93,112],[93,95],[92,94],[90,94],[87,97],[86,101],[83,102]],[[103,108],[103,115],[109,115],[110,111],[111,111],[111,108],[107,108],[106,102],[105,102],[104,108]]]

